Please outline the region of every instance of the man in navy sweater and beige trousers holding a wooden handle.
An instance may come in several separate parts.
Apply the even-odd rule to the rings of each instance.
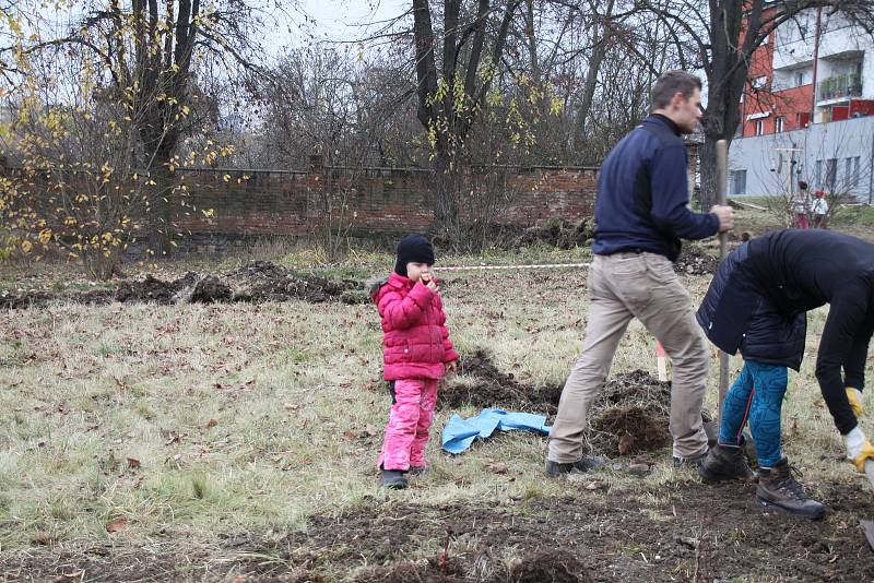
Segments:
[[[698,78],[664,73],[652,88],[652,114],[616,144],[601,167],[586,340],[550,435],[551,477],[598,465],[583,455],[586,419],[633,318],[661,342],[674,365],[674,463],[697,465],[707,454],[701,404],[709,350],[672,262],[680,254],[680,239],[729,230],[734,213],[730,206],[713,206],[709,214],[688,210],[688,159],[681,135],[695,130],[700,103]]]

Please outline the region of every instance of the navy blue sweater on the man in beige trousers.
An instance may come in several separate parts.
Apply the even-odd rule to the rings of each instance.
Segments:
[[[688,159],[680,129],[652,115],[611,151],[598,177],[592,251],[648,251],[675,261],[680,239],[719,231],[714,214],[688,210]]]

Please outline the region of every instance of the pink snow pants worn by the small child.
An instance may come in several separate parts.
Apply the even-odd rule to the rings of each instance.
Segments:
[[[425,445],[428,444],[428,429],[436,404],[436,379],[394,381],[394,404],[379,454],[382,468],[406,471],[426,467]]]

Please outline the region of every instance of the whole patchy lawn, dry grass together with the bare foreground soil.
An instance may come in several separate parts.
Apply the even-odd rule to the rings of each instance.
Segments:
[[[532,250],[441,263],[586,257]],[[310,273],[309,259],[300,251],[283,262]],[[162,269],[166,278],[208,271]],[[363,278],[390,269],[388,255],[368,254],[321,273]],[[5,281],[23,287],[17,274]],[[697,302],[709,276],[683,281]],[[461,354],[487,349],[498,384],[555,395],[582,341],[584,270],[447,272],[445,282]],[[673,467],[665,448],[615,451],[606,469],[558,480],[544,479],[545,439],[530,433],[449,456],[438,449],[442,425],[452,413],[479,413],[463,400],[438,409],[430,473],[408,491],[380,491],[375,462],[389,397],[369,305],[50,301],[4,310],[0,576],[867,581],[874,554],[858,520],[874,517],[874,497],[835,459],[840,440],[813,370],[825,314],[810,318],[783,428],[804,483],[831,510],[810,523],[759,509],[753,485],[701,485]],[[732,360],[733,371],[740,366]],[[656,373],[653,340],[635,322],[612,378],[636,369]],[[714,358],[711,411],[716,374]],[[449,381],[482,382],[473,371]],[[546,401],[524,406],[554,411]],[[867,392],[865,406],[874,408]]]

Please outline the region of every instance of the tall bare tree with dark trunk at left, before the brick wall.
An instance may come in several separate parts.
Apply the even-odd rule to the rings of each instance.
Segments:
[[[277,4],[280,5],[280,4]],[[34,7],[33,13],[39,13]],[[223,75],[235,69],[260,70],[253,32],[263,13],[244,0],[201,5],[200,0],[87,0],[70,10],[71,25],[56,34],[40,29],[21,46],[25,53],[54,51],[62,66],[67,51],[93,58],[105,69],[103,98],[129,102],[137,133],[154,168],[157,194],[151,201],[152,249],[166,252],[169,204],[178,146],[190,127],[180,123],[196,103],[197,76],[220,63]],[[4,55],[19,47],[9,47]]]

